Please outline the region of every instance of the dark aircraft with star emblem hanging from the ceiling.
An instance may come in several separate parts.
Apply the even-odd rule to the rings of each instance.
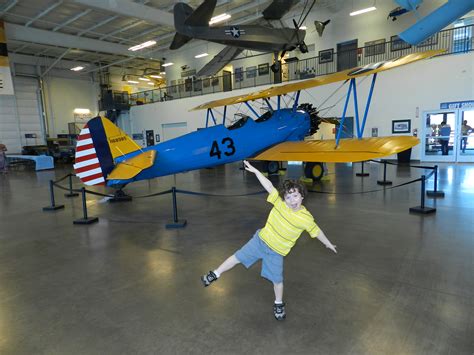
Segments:
[[[263,19],[280,20],[295,2],[295,0],[274,0],[262,12]],[[214,75],[244,49],[275,53],[275,65],[272,66],[274,72],[279,70],[279,58],[282,58],[287,51],[299,48],[303,53],[308,52],[308,47],[304,42],[306,31],[300,29],[306,17],[300,21],[300,24],[293,20],[295,28],[273,28],[263,25],[209,27],[216,3],[217,0],[205,0],[196,10],[193,10],[188,4],[180,2],[173,9],[176,34],[170,49],[178,49],[193,38],[226,45],[197,73],[198,76]],[[313,5],[309,7],[308,12]]]

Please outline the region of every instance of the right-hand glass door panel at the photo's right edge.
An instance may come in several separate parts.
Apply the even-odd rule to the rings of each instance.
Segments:
[[[457,161],[474,162],[474,109],[459,110],[458,127]]]

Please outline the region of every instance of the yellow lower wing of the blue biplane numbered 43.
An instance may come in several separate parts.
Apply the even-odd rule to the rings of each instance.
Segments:
[[[381,158],[414,147],[419,139],[410,136],[283,142],[252,159],[347,163]]]

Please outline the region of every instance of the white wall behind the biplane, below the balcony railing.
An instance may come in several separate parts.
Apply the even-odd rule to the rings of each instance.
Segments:
[[[378,128],[379,136],[391,135],[392,120],[407,118],[412,120],[412,129],[416,128],[420,132],[420,117],[424,110],[438,109],[440,102],[472,100],[474,98],[473,78],[474,53],[472,52],[424,60],[380,73],[372,97],[364,136],[370,137],[373,127]],[[370,78],[364,81],[358,79],[357,94],[360,116],[364,112],[370,80]],[[309,89],[302,92],[300,102],[310,102],[318,106],[328,96],[333,94],[340,85],[341,83],[335,83]],[[161,132],[162,124],[176,122],[187,122],[188,131],[195,131],[198,127],[205,126],[206,111],[189,112],[189,109],[203,102],[229,96],[238,96],[254,90],[255,88],[250,88],[233,91],[232,93],[218,93],[134,106],[130,110],[131,132],[129,131],[128,133],[142,133],[146,129],[153,129],[155,133],[163,136],[163,132]],[[341,98],[345,98],[346,92],[347,85],[333,95],[332,99],[325,106],[328,107],[339,102],[331,111],[322,112],[324,116],[341,116],[344,105],[344,100],[341,100]],[[248,112],[244,105],[241,108]],[[235,109],[235,107],[228,109],[228,117],[231,118],[233,116]],[[220,112],[222,112],[222,109]],[[352,99],[347,116],[354,116]],[[217,117],[216,119],[219,120]],[[328,128],[326,127],[324,132],[327,131]],[[328,139],[331,137],[326,136],[326,133],[324,133],[324,138]],[[412,159],[420,158],[419,149],[419,146],[414,148]]]

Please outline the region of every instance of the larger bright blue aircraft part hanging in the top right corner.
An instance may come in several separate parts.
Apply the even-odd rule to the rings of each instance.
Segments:
[[[473,0],[450,0],[399,36],[405,42],[417,45],[471,10],[474,10]]]

